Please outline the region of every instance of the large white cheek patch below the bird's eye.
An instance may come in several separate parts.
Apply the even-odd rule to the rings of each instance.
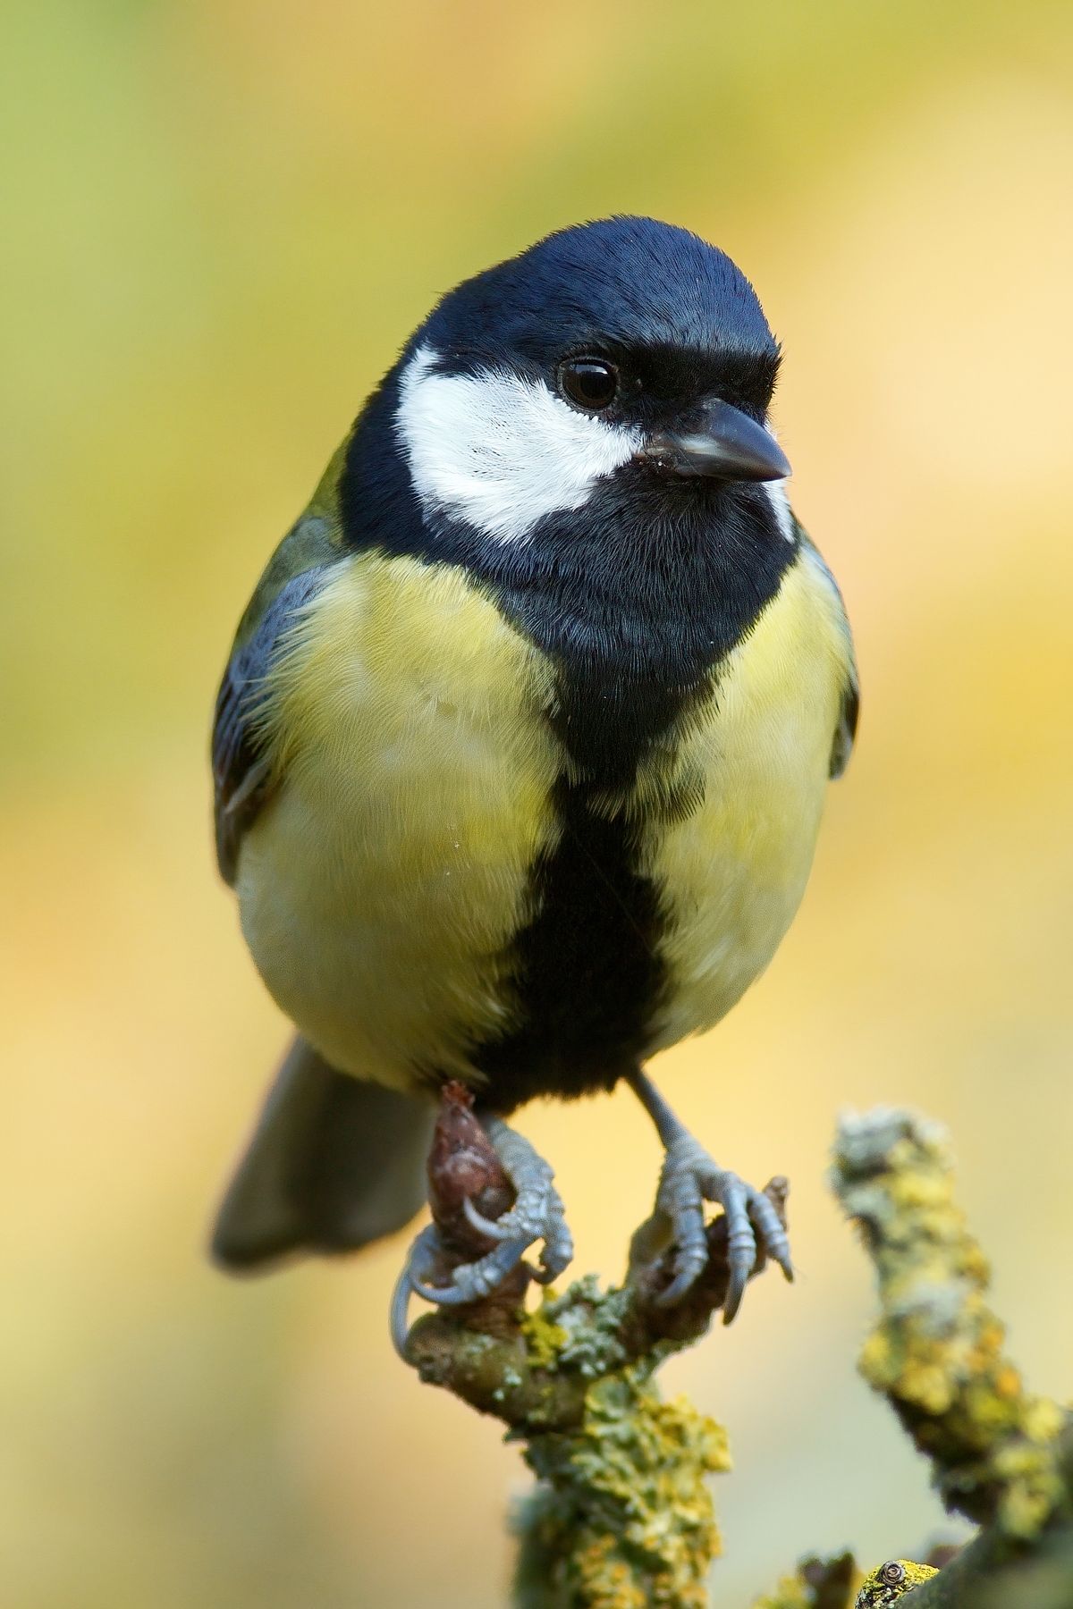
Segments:
[[[539,380],[505,370],[441,375],[420,348],[401,381],[396,433],[426,508],[497,542],[521,542],[544,515],[581,508],[642,433],[578,414]]]

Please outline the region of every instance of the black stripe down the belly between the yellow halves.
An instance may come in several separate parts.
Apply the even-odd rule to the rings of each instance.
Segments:
[[[664,914],[639,870],[656,811],[640,817],[626,803],[655,740],[709,690],[711,676],[624,676],[598,660],[560,671],[549,719],[573,767],[550,796],[558,842],[531,870],[536,914],[508,954],[515,1027],[471,1052],[495,1110],[610,1089],[643,1057],[666,986]],[[658,816],[689,814],[701,796],[669,795]]]

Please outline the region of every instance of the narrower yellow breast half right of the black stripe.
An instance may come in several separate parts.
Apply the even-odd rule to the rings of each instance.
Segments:
[[[676,790],[701,795],[690,814],[645,837],[643,866],[668,914],[668,990],[652,1051],[719,1022],[793,920],[851,652],[841,600],[806,547],[713,697],[640,777],[642,813]]]

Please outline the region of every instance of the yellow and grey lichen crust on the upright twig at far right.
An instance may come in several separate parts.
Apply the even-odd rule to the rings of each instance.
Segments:
[[[1002,1355],[988,1261],[954,1202],[943,1133],[901,1112],[846,1118],[835,1189],[877,1266],[880,1323],[861,1372],[931,1459],[949,1508],[1031,1537],[1063,1498],[1063,1414]]]

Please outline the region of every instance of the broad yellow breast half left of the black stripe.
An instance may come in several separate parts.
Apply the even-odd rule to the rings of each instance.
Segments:
[[[467,1075],[555,833],[550,673],[460,570],[341,563],[265,700],[282,785],[236,890],[282,1009],[339,1070]]]

